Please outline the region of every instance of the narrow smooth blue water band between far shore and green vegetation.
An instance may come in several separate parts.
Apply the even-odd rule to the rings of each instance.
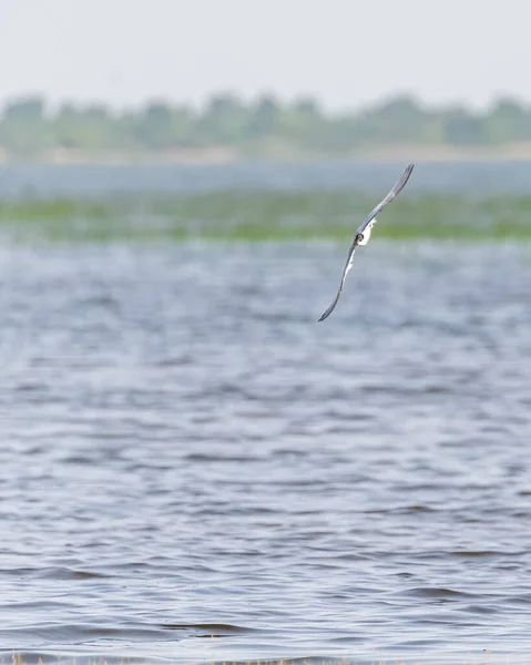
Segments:
[[[0,167],[0,196],[54,197],[231,188],[337,190],[379,194],[406,163],[253,162],[228,165],[19,165]],[[527,194],[531,162],[418,163],[408,192]]]

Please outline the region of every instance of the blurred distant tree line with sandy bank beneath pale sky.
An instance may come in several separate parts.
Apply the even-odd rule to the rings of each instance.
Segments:
[[[282,151],[347,155],[375,146],[425,144],[483,146],[531,141],[531,108],[499,99],[484,112],[462,106],[428,109],[399,95],[369,109],[325,113],[312,98],[282,103],[262,95],[245,103],[214,94],[202,109],[152,101],[136,110],[65,103],[49,110],[44,99],[11,100],[0,117],[0,150],[34,157],[63,149],[145,153],[225,146],[242,155]]]

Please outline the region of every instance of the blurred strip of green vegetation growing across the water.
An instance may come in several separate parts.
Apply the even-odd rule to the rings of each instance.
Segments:
[[[346,241],[374,205],[346,192],[216,192],[175,197],[0,203],[0,228],[18,241]],[[420,195],[381,213],[380,238],[531,239],[531,197]]]

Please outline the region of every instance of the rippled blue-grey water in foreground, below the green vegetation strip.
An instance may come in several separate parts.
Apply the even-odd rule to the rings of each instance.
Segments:
[[[344,255],[1,257],[6,662],[528,662],[531,248]]]

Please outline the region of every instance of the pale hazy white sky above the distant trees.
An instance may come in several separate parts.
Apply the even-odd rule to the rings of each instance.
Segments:
[[[531,101],[529,0],[0,0],[0,103]]]

